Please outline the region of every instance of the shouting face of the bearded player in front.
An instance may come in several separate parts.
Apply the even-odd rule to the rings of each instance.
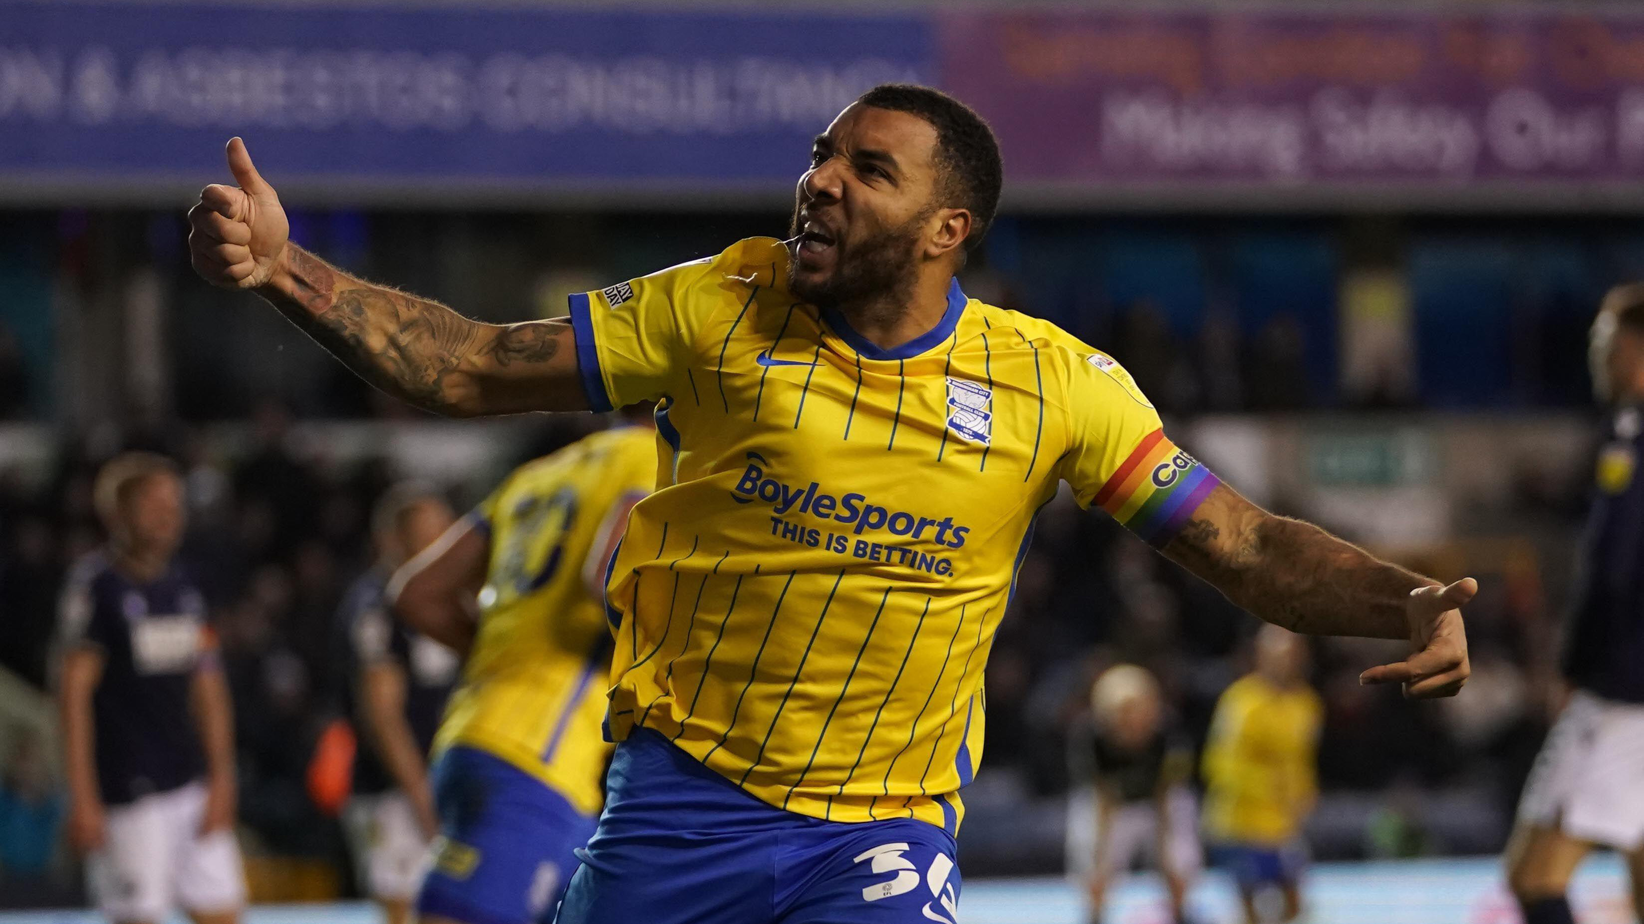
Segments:
[[[819,307],[912,291],[939,225],[935,127],[852,104],[819,135],[799,178],[787,288]]]

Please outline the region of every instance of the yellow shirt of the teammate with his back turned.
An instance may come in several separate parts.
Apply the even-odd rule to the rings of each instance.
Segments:
[[[582,569],[620,501],[654,483],[656,434],[628,426],[521,465],[480,503],[475,521],[490,531],[480,625],[436,751],[483,750],[598,812],[612,636]]]

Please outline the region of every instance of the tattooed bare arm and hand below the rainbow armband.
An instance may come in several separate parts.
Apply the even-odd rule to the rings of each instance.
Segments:
[[[1445,587],[1310,523],[1274,516],[1226,485],[1205,497],[1164,554],[1287,630],[1411,640],[1409,659],[1371,668],[1363,682],[1404,682],[1412,697],[1453,695],[1466,682],[1460,607],[1478,592],[1470,577]]]

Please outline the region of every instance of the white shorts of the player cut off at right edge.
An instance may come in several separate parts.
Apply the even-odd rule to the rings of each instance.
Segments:
[[[1616,850],[1644,845],[1644,705],[1577,691],[1535,756],[1519,822]]]

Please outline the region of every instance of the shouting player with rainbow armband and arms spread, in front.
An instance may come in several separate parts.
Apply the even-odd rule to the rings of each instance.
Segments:
[[[827,127],[789,240],[577,296],[569,324],[329,266],[238,140],[229,164],[240,187],[191,212],[196,270],[383,390],[455,416],[659,403],[658,492],[608,585],[620,743],[566,924],[952,921],[983,666],[1062,480],[1272,621],[1417,641],[1366,681],[1466,679],[1471,580],[1259,510],[1106,355],[960,291],[1003,171],[937,90],[876,87]]]

